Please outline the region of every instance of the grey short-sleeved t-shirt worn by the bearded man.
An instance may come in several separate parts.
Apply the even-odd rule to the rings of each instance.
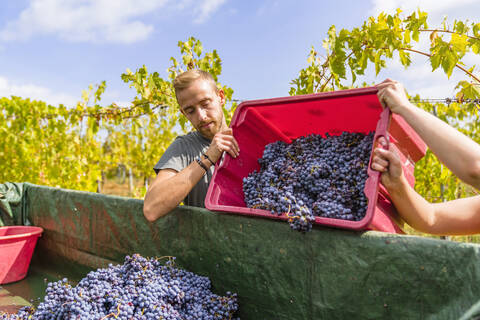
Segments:
[[[195,158],[207,151],[210,140],[203,137],[198,131],[178,136],[168,147],[153,170],[158,173],[161,169],[173,169],[178,172],[186,168]],[[203,170],[203,169],[202,169]],[[193,187],[183,203],[187,206],[205,207],[205,196],[207,195],[208,184],[212,179],[214,167],[211,166],[207,174]]]

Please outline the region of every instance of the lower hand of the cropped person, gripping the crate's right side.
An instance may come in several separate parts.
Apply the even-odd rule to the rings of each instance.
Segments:
[[[380,137],[373,150],[372,169],[382,173],[382,184],[390,191],[404,183],[405,177],[400,158],[393,150],[385,149],[386,147],[387,141]]]

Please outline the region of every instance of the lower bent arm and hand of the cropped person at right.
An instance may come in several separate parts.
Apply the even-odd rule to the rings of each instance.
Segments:
[[[380,138],[380,143],[385,147],[383,138]],[[400,158],[390,150],[374,150],[372,169],[382,172],[382,184],[388,190],[395,208],[416,230],[438,235],[480,232],[480,196],[429,203],[407,182]]]

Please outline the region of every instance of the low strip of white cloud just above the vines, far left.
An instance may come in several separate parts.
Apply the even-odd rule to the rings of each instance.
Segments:
[[[64,104],[73,106],[79,100],[65,93],[53,93],[50,89],[35,84],[14,84],[0,76],[0,97],[17,96],[32,100],[45,101],[51,105]]]

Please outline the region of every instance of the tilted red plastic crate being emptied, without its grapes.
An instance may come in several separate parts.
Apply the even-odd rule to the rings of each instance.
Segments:
[[[205,207],[213,211],[287,220],[286,214],[278,216],[267,210],[247,208],[242,180],[260,169],[258,159],[267,144],[278,140],[290,143],[309,134],[325,136],[326,133],[339,135],[343,131],[365,134],[375,131],[375,141],[385,136],[399,151],[405,175],[413,186],[415,162],[425,155],[426,146],[401,117],[391,116],[389,109],[382,109],[376,93],[377,89],[370,87],[241,103],[230,125],[240,147],[240,156],[234,159],[225,154],[217,163]],[[388,192],[380,185],[380,173],[369,166],[368,175],[364,189],[368,208],[362,220],[316,217],[314,224],[402,233],[398,226],[401,220]]]

